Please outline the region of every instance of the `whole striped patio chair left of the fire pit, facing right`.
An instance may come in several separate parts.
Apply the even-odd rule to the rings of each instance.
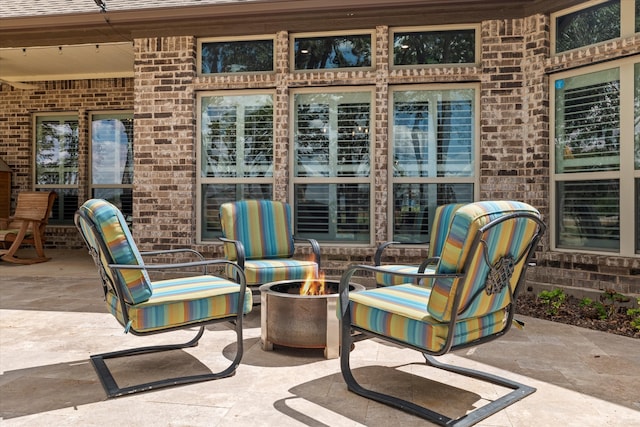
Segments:
[[[151,389],[232,376],[242,359],[242,318],[252,308],[251,292],[244,274],[227,260],[205,260],[192,249],[139,252],[125,219],[114,205],[101,199],[85,202],[75,215],[75,224],[92,255],[102,281],[107,309],[134,335],[149,335],[178,329],[199,328],[195,337],[182,344],[139,347],[91,356],[108,397]],[[148,257],[177,260],[175,263],[145,263]],[[195,261],[189,261],[193,260]],[[209,269],[235,268],[238,283]],[[151,280],[150,272],[185,269],[187,277]],[[194,271],[195,269],[195,271]],[[171,377],[127,387],[119,387],[105,359],[193,347],[205,326],[230,322],[236,332],[236,354],[225,369],[216,373]],[[171,375],[171,373],[169,373]]]

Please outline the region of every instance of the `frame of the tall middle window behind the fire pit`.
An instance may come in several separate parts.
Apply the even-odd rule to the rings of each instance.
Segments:
[[[369,127],[369,173],[368,176],[296,176],[296,95],[305,94],[332,94],[332,93],[369,93],[369,105],[370,105],[370,123]],[[295,88],[290,91],[290,108],[289,108],[289,134],[292,136],[290,139],[290,147],[288,153],[288,165],[289,165],[289,200],[291,206],[296,210],[296,185],[298,184],[321,184],[321,185],[337,185],[337,184],[366,184],[369,185],[369,239],[366,241],[344,241],[344,240],[323,240],[316,238],[319,242],[326,243],[328,245],[340,245],[344,247],[370,247],[375,242],[375,158],[376,158],[376,109],[375,109],[375,87],[374,86],[331,86],[331,87],[309,87],[309,88]],[[331,216],[331,211],[329,211]],[[295,223],[297,221],[296,215],[293,215],[293,223],[295,229]]]

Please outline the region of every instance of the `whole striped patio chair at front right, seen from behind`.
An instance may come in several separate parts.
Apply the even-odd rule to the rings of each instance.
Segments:
[[[473,425],[535,392],[507,378],[439,362],[434,356],[483,344],[509,330],[518,291],[544,230],[539,212],[525,203],[470,203],[456,212],[433,272],[395,273],[419,279],[420,285],[349,292],[354,273],[377,273],[380,267],[347,269],[340,281],[339,314],[341,371],[349,390],[442,426]],[[358,351],[358,347],[350,351],[358,333],[417,350],[427,365],[512,391],[483,406],[471,405],[452,418],[408,398],[364,388],[356,380],[358,369],[352,370],[349,361]],[[357,357],[363,360],[362,355]],[[373,383],[370,377],[367,381]]]

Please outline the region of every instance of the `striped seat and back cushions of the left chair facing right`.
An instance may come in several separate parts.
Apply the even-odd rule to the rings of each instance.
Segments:
[[[125,307],[115,291],[107,290],[105,300],[109,311],[126,330],[149,332],[169,327],[229,317],[236,314],[240,285],[212,276],[152,281],[144,269],[111,269],[96,239],[102,239],[116,264],[143,266],[142,256],[120,210],[111,203],[92,199],[80,208],[95,223],[96,233],[80,217],[80,229],[89,246],[101,254],[104,271],[123,293]],[[117,285],[116,285],[117,286]],[[251,291],[245,291],[244,313],[251,311]],[[129,322],[125,322],[123,309]],[[126,324],[125,324],[126,323]]]

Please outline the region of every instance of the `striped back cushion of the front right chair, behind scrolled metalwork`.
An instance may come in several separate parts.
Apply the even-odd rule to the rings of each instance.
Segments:
[[[486,201],[470,203],[463,206],[456,213],[449,236],[444,245],[438,264],[438,273],[462,272],[464,263],[471,257],[469,270],[466,271],[464,280],[435,279],[429,305],[429,314],[434,318],[446,322],[451,318],[453,296],[457,286],[463,286],[460,310],[460,319],[468,319],[491,313],[506,307],[508,292],[498,292],[488,295],[483,292],[486,277],[490,267],[484,262],[482,247],[475,253],[470,253],[471,244],[477,231],[490,221],[501,216],[516,213],[529,212],[539,216],[539,212],[526,203],[516,201]],[[530,243],[537,230],[537,224],[526,218],[504,222],[485,234],[484,240],[489,245],[489,259],[493,264],[505,254],[510,254],[517,259]],[[515,266],[511,277],[512,289],[517,285],[522,267],[526,259]]]

